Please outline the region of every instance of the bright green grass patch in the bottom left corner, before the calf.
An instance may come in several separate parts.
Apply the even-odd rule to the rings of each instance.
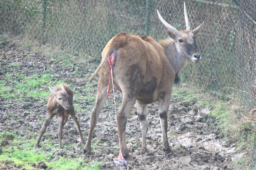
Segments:
[[[52,154],[54,146],[49,144],[42,144],[42,149],[34,150],[33,146],[36,139],[17,138],[16,135],[10,132],[3,132],[0,134],[0,141],[8,139],[8,145],[2,147],[0,153],[1,164],[10,164],[17,168],[25,168],[32,170],[34,167],[29,163],[34,162],[36,165],[40,161],[44,161],[46,166],[52,170],[98,170],[101,162],[86,163],[84,156],[77,155],[76,158],[68,158],[62,156],[55,156]],[[44,149],[51,150],[50,152]]]

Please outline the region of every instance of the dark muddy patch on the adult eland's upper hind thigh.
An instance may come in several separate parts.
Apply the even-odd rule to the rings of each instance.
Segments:
[[[129,78],[129,88],[131,89],[130,94],[132,96],[137,96],[138,92],[140,91],[142,80],[144,78],[140,66],[138,66],[138,64],[131,65],[127,70],[126,76]]]

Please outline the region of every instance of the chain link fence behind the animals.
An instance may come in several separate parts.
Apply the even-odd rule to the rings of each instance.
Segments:
[[[183,2],[1,0],[0,34],[28,37],[76,53],[86,61],[100,62],[102,49],[119,32],[165,39],[156,9],[168,23],[185,29]],[[202,22],[205,26],[197,39],[202,62],[188,64],[181,72],[182,81],[223,99],[232,96],[243,106],[253,106],[250,93],[256,79],[256,1],[185,2],[192,29]]]

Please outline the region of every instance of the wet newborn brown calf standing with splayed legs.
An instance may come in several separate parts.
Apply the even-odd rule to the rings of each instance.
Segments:
[[[57,116],[58,120],[58,139],[59,139],[59,149],[62,149],[61,147],[61,140],[62,140],[62,129],[65,125],[65,123],[68,121],[68,115],[70,114],[73,123],[76,126],[76,129],[78,130],[78,133],[81,138],[81,142],[84,144],[84,138],[81,133],[79,122],[76,118],[74,106],[73,106],[73,92],[68,87],[68,85],[58,85],[56,88],[52,89],[49,87],[49,90],[51,92],[48,102],[47,102],[47,113],[46,113],[46,119],[44,120],[44,125],[42,125],[40,134],[38,137],[38,140],[35,144],[35,148],[39,147],[39,143],[42,139],[42,135],[44,135],[46,131],[46,127],[49,125],[52,117],[54,115]]]

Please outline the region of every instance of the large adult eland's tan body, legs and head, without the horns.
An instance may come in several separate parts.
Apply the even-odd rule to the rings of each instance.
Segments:
[[[200,29],[202,29],[202,25],[193,31],[196,30],[195,32],[198,33]],[[152,102],[158,102],[159,106],[163,149],[170,151],[167,138],[167,117],[174,79],[186,65],[187,60],[197,63],[200,54],[197,52],[195,34],[192,31],[177,30],[174,33],[166,28],[166,32],[170,38],[162,40],[160,43],[154,41],[150,36],[140,38],[127,33],[119,33],[108,41],[102,51],[102,61],[90,77],[91,81],[100,71],[96,103],[92,109],[90,130],[84,152],[90,153],[91,151],[92,133],[106,100],[110,72],[109,63],[106,61],[112,52],[115,52],[115,63],[113,64],[114,86],[123,94],[122,105],[117,114],[120,148],[123,156],[128,157],[125,129],[128,115],[135,103],[142,129],[142,153],[147,151],[146,106]],[[183,41],[180,42],[180,39]],[[112,84],[110,84],[111,89]]]

